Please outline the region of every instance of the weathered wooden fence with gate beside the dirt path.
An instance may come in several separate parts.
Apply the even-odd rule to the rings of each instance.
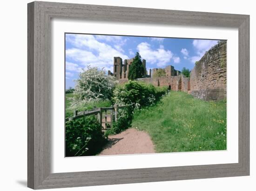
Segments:
[[[128,107],[128,105],[114,105],[109,108],[94,108],[93,110],[87,111],[74,111],[72,117],[66,118],[66,121],[78,119],[81,117],[89,116],[89,115],[97,115],[98,121],[101,124],[102,128],[105,130],[108,127],[112,127],[113,121],[117,121],[118,119],[118,109]],[[109,126],[108,126],[109,124]]]

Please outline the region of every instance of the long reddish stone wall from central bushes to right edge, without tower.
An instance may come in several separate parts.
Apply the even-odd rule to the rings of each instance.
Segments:
[[[170,69],[174,70],[171,67]],[[153,73],[154,71],[153,69]],[[140,78],[137,80],[152,83],[155,86],[171,85],[172,90],[182,90],[202,100],[220,100],[226,98],[227,41],[222,40],[207,51],[195,63],[195,67],[190,72],[190,78],[179,74],[176,75],[178,76]]]

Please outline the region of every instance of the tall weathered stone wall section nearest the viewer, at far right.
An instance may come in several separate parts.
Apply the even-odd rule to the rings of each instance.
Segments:
[[[203,100],[219,100],[227,90],[227,41],[215,45],[195,64],[190,73],[191,95]]]

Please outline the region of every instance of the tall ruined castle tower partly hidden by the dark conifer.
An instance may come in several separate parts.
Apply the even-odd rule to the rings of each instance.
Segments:
[[[128,79],[129,67],[132,64],[133,60],[134,60],[134,58],[125,59],[124,61],[122,61],[121,57],[114,57],[113,75],[116,77],[117,80]],[[147,69],[146,69],[146,60],[145,59],[142,59],[142,64],[144,67],[144,74],[146,76]],[[111,75],[112,73],[110,71],[108,71],[108,74]]]

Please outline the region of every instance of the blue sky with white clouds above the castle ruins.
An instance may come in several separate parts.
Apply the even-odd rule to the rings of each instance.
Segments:
[[[139,52],[147,70],[173,65],[193,69],[205,51],[217,40],[187,38],[154,38],[66,33],[66,89],[74,87],[74,79],[88,65],[113,72],[113,57],[123,60]]]

